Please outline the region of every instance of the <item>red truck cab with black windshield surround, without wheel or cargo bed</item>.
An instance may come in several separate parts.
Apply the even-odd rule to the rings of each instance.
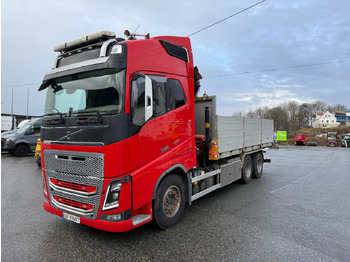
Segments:
[[[150,221],[162,174],[196,165],[189,39],[102,31],[55,51],[39,88],[45,210],[107,231]]]

